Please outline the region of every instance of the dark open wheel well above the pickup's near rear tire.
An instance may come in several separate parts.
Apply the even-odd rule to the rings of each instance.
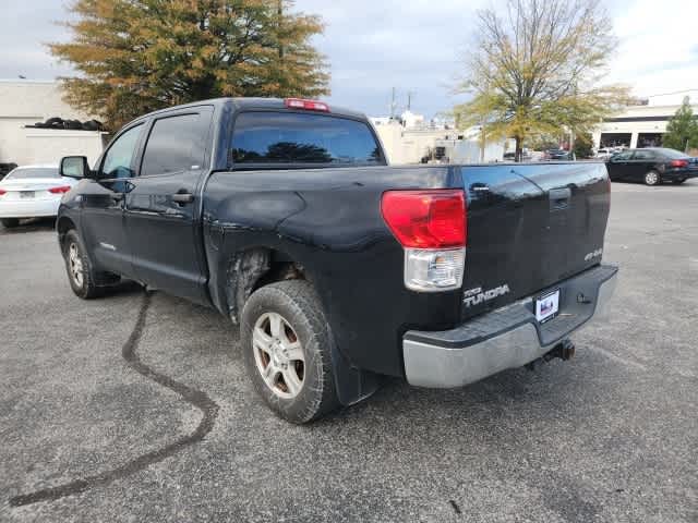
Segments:
[[[233,323],[248,299],[257,289],[285,280],[308,280],[301,264],[273,248],[253,248],[237,253],[228,263],[226,294],[228,312]]]

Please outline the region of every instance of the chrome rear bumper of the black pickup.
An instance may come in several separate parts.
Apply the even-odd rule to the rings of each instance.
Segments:
[[[453,330],[406,332],[407,381],[418,387],[461,387],[541,357],[573,331],[607,313],[617,272],[617,267],[603,265],[555,285],[561,290],[559,314],[542,325],[535,320],[529,297]]]

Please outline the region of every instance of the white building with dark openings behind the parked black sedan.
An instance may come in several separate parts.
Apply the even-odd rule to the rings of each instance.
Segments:
[[[662,145],[669,120],[679,106],[633,106],[607,118],[593,133],[594,147],[652,147]],[[693,106],[698,113],[698,106]]]

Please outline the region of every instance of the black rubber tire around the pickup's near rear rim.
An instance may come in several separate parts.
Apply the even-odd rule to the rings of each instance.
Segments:
[[[302,386],[292,398],[280,397],[278,390],[273,390],[257,366],[257,354],[262,353],[253,345],[253,331],[257,321],[269,314],[282,317],[292,329],[290,333],[300,341],[304,355]],[[242,309],[240,341],[244,364],[254,388],[284,419],[296,424],[309,423],[339,405],[330,358],[334,339],[320,299],[308,281],[281,281],[255,291]],[[278,374],[279,386],[284,385],[284,376]]]

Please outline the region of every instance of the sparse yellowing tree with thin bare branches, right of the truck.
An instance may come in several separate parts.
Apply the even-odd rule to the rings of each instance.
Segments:
[[[459,89],[461,125],[514,137],[516,158],[534,135],[586,133],[627,100],[623,86],[599,86],[615,45],[600,0],[507,0],[478,11]]]

